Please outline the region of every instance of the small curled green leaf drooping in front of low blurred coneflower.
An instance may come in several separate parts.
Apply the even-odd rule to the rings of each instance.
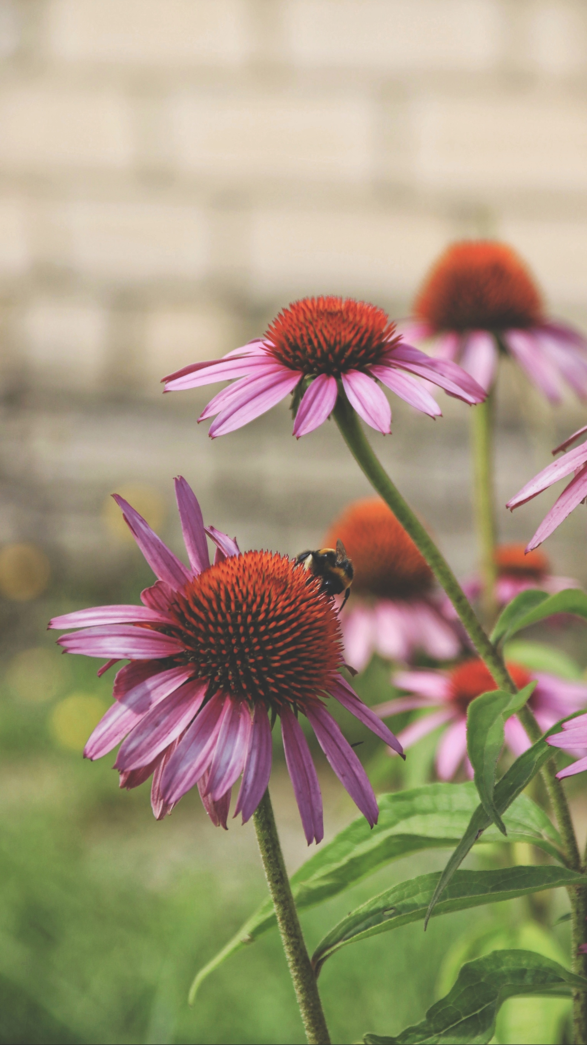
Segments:
[[[514,695],[504,690],[482,693],[471,701],[467,712],[467,751],[475,786],[487,815],[503,835],[508,832],[493,800],[497,760],[504,740],[503,722],[523,707],[536,684],[529,682]]]

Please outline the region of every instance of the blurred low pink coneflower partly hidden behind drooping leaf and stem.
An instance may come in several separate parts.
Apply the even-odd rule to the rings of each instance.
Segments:
[[[527,671],[517,664],[508,664],[508,670],[518,689],[532,679],[537,680],[529,703],[542,729],[548,729],[565,715],[587,706],[587,684],[584,682],[567,682],[544,672]],[[437,749],[438,775],[443,781],[450,780],[463,762],[471,774],[467,759],[467,709],[482,693],[497,689],[483,660],[465,660],[448,672],[398,672],[393,681],[413,695],[379,704],[373,709],[377,715],[388,718],[416,709],[427,709],[431,713],[402,730],[398,738],[402,746],[410,747],[432,729],[446,725],[448,728]],[[508,719],[504,728],[506,743],[514,754],[521,754],[530,747],[531,742],[515,715]]]

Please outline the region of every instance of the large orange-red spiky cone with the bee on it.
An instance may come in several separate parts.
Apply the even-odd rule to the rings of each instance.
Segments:
[[[267,707],[300,707],[328,692],[342,655],[332,601],[286,556],[245,552],[178,595],[173,614],[198,678]]]

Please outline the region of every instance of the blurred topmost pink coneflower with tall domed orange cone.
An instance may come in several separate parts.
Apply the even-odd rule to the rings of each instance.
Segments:
[[[587,398],[587,342],[545,316],[530,272],[506,243],[448,247],[416,298],[405,335],[433,339],[439,358],[459,361],[487,391],[506,352],[550,402],[560,401],[563,381]]]

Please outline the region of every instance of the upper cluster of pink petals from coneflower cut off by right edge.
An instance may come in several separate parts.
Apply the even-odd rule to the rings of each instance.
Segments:
[[[565,439],[564,443],[561,443],[560,446],[556,446],[553,454],[566,450],[576,439],[584,436],[586,432],[587,424],[573,432],[572,436]],[[543,468],[538,475],[531,479],[530,483],[526,483],[519,493],[516,493],[516,496],[512,497],[506,505],[506,508],[513,511],[514,508],[525,505],[526,502],[536,497],[538,493],[542,493],[543,490],[548,489],[554,483],[558,483],[560,479],[570,475],[571,472],[574,472],[574,478],[571,479],[568,486],[565,487],[560,497],[555,502],[548,514],[542,519],[526,548],[526,552],[532,552],[533,549],[538,548],[561,525],[563,519],[566,519],[567,515],[570,515],[573,508],[577,508],[582,501],[585,501],[587,496],[587,442],[582,443],[581,446],[576,446],[573,450],[569,450],[564,457]]]

